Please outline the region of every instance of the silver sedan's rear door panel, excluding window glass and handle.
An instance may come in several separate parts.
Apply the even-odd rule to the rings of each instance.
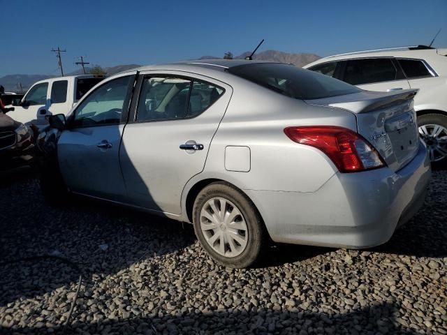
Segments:
[[[214,104],[196,117],[131,121],[124,130],[119,161],[128,201],[136,206],[179,215],[184,185],[203,170],[212,138],[226,112],[233,89],[228,84],[194,73],[155,70],[140,75],[196,78],[225,89]],[[189,151],[179,148],[181,144],[191,141],[202,144],[203,149]]]

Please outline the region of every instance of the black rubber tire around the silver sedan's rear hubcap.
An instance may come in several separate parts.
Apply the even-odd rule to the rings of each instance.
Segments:
[[[220,255],[208,244],[203,232],[200,228],[200,211],[208,200],[212,198],[224,198],[233,202],[237,209],[240,210],[247,224],[247,246],[240,255],[235,257],[225,257]],[[254,206],[253,202],[237,188],[224,182],[212,183],[203,188],[196,197],[193,207],[193,223],[194,232],[198,238],[202,248],[210,255],[210,257],[220,265],[233,268],[244,268],[254,265],[261,259],[262,251],[267,240],[267,232],[265,225]]]

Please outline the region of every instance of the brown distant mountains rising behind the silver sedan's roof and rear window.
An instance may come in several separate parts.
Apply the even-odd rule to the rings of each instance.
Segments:
[[[251,52],[247,51],[243,54],[240,54],[239,56],[234,57],[235,59],[244,59],[245,57],[249,56]],[[288,53],[288,52],[281,52],[277,50],[267,50],[263,52],[259,52],[254,54],[253,59],[257,59],[259,61],[279,61],[280,63],[287,63],[287,64],[293,64],[295,66],[304,66],[306,64],[312,63],[312,61],[316,61],[317,59],[320,59],[316,54],[306,54],[306,53]],[[203,56],[199,59],[219,59],[219,57],[214,56]]]

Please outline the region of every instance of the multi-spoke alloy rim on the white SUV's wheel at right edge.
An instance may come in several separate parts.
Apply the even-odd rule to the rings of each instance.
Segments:
[[[447,129],[439,124],[419,127],[419,135],[427,144],[430,161],[437,162],[447,156]]]

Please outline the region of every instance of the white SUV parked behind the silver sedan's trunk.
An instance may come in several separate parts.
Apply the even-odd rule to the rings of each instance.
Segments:
[[[420,136],[432,162],[447,157],[447,49],[424,45],[351,52],[303,66],[369,91],[419,89]]]

